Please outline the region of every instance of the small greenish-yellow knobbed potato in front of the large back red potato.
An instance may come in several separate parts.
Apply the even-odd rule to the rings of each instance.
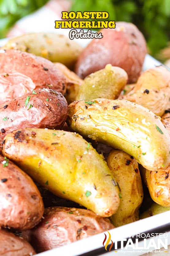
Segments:
[[[88,75],[79,88],[76,100],[95,98],[117,99],[126,85],[128,75],[120,67],[107,64],[105,68]]]

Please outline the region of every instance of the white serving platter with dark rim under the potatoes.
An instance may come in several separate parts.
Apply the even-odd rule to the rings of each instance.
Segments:
[[[61,31],[60,31],[61,32]],[[59,32],[59,33],[60,33]],[[63,30],[62,30],[63,32]],[[63,33],[62,33],[63,34]],[[9,39],[1,39],[0,47],[3,46]],[[83,47],[87,45],[90,41],[89,39],[79,39],[77,42]],[[147,70],[152,67],[162,65],[159,61],[146,55],[143,70]],[[108,232],[102,232],[100,234],[94,235],[90,238],[79,240],[73,242],[66,246],[48,250],[46,252],[37,254],[38,256],[99,256],[99,255],[126,255],[126,256],[139,256],[150,251],[156,251],[154,255],[161,253],[162,256],[170,255],[170,248],[165,249],[166,245],[170,245],[170,211],[157,214],[152,217],[148,217],[112,230],[109,230],[111,240],[113,241],[113,246],[111,246],[111,240],[108,246],[105,248],[106,242],[108,241]],[[106,241],[103,241],[106,234]],[[162,234],[162,235],[160,235]],[[164,238],[159,238],[164,236]],[[144,238],[147,236],[147,238]],[[149,236],[152,236],[150,238]],[[157,237],[156,237],[157,236]],[[131,240],[129,240],[131,238]],[[137,238],[137,240],[136,240]],[[123,249],[123,239],[124,249]],[[162,241],[161,247],[163,249],[155,249]],[[121,242],[122,241],[122,242]],[[129,246],[126,242],[131,241]],[[149,245],[150,243],[150,245]],[[166,245],[165,245],[166,244]],[[117,246],[116,246],[117,245]],[[152,247],[153,245],[153,247]],[[127,248],[128,247],[128,248]],[[148,247],[148,248],[147,248]],[[158,246],[159,247],[159,246]],[[115,249],[117,248],[117,249]],[[143,248],[143,249],[142,249]],[[106,250],[107,249],[107,250]]]

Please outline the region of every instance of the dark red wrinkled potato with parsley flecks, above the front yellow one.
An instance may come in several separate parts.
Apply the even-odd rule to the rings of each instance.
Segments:
[[[35,94],[36,93],[36,94]],[[30,97],[28,105],[25,101]],[[30,109],[29,107],[32,106]],[[0,105],[0,143],[7,133],[20,128],[59,129],[67,118],[64,96],[52,89],[38,89]]]

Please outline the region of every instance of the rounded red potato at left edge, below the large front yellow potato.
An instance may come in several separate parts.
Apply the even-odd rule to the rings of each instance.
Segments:
[[[43,213],[41,194],[33,180],[0,156],[0,226],[19,231],[30,229]]]

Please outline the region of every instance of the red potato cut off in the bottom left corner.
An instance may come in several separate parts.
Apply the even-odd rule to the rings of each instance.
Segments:
[[[30,256],[36,252],[22,237],[0,229],[0,256]]]

